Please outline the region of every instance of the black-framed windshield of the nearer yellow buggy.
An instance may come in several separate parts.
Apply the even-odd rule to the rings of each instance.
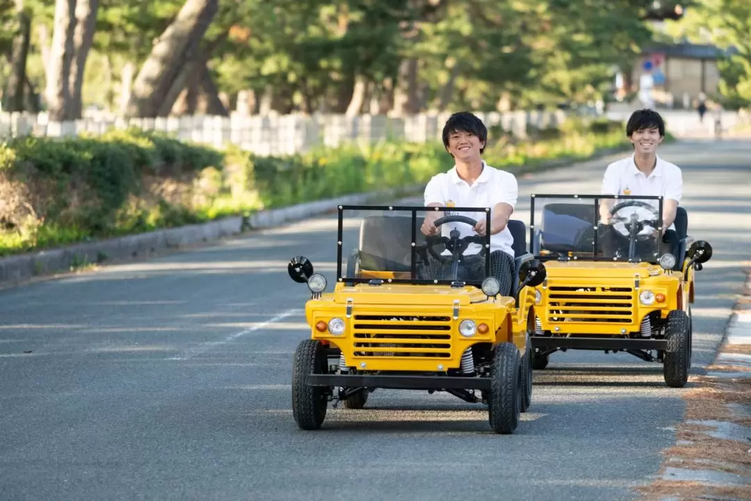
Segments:
[[[480,286],[490,270],[490,253],[484,250],[490,237],[479,236],[473,227],[487,225],[489,214],[466,207],[341,206],[337,276],[348,284]],[[438,223],[435,236],[422,233],[426,218]]]

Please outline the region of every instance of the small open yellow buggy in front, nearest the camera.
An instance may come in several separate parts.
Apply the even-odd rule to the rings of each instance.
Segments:
[[[435,222],[442,234],[425,237],[434,210],[445,213]],[[492,429],[513,433],[532,399],[534,286],[545,269],[513,222],[514,297],[499,295],[490,237],[469,231],[480,217],[489,228],[490,208],[339,206],[333,291],[308,258],[291,259],[291,279],[312,294],[310,338],[292,371],[298,427],[320,428],[330,402],[362,409],[376,388],[391,388],[487,404]]]

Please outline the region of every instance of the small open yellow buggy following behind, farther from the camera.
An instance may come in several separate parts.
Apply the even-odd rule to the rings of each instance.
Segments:
[[[674,227],[666,243],[658,196],[532,195],[530,251],[547,269],[535,290],[535,369],[559,350],[626,352],[661,363],[668,386],[686,384],[694,273],[712,247],[688,236],[683,207]]]

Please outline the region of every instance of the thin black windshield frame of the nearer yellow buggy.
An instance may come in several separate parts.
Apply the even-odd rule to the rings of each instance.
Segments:
[[[344,244],[344,213],[346,210],[356,210],[372,213],[409,213],[412,216],[412,242],[411,242],[411,255],[410,263],[412,270],[410,272],[409,279],[372,279],[372,278],[349,278],[342,274],[342,246]],[[490,232],[486,231],[484,237],[482,237],[482,245],[487,249],[484,256],[484,276],[480,280],[451,280],[451,279],[417,279],[417,238],[418,238],[418,217],[423,218],[424,215],[418,216],[418,213],[427,213],[430,211],[445,213],[444,216],[450,216],[448,213],[479,213],[485,211],[485,228],[490,228],[490,216],[493,207],[424,207],[419,205],[338,205],[337,215],[338,220],[336,223],[336,282],[348,282],[357,284],[369,284],[369,285],[382,285],[388,284],[409,284],[409,285],[451,285],[453,287],[463,287],[464,285],[473,285],[481,287],[482,282],[488,276],[490,276]]]

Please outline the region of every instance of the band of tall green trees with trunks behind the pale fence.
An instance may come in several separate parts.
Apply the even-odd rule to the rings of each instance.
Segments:
[[[749,6],[702,2],[687,17],[710,13],[718,43],[741,46],[723,85],[747,99]],[[650,9],[653,0],[0,0],[11,63],[0,88],[4,109],[38,95],[61,119],[87,106],[125,116],[551,107],[608,95],[617,68],[653,38]]]

